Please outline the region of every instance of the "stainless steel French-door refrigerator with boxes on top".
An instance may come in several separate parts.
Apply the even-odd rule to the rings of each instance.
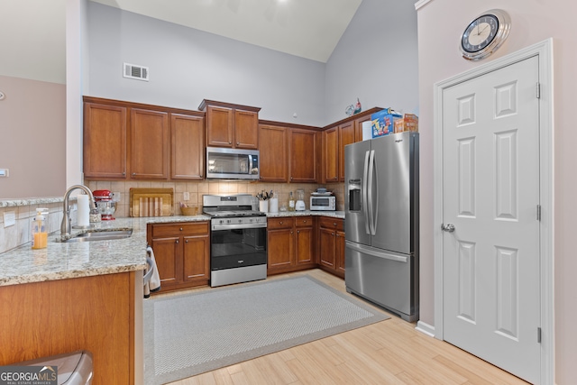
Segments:
[[[346,290],[418,319],[418,133],[344,147]]]

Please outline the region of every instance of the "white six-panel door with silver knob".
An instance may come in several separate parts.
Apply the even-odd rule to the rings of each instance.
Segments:
[[[540,380],[537,82],[532,57],[443,94],[444,340],[532,383]]]

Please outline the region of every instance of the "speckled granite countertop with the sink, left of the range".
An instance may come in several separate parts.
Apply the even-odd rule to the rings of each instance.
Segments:
[[[129,238],[112,241],[62,243],[56,232],[50,234],[45,249],[32,250],[27,243],[1,253],[0,286],[144,270],[147,224],[207,220],[206,215],[179,215],[116,218],[97,224],[93,230],[133,229]],[[85,231],[73,229],[72,234]]]

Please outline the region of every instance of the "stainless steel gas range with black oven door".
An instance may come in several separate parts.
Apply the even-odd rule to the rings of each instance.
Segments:
[[[210,220],[210,286],[267,278],[267,217],[252,195],[204,195]]]

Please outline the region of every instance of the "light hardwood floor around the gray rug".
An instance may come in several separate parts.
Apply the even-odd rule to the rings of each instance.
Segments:
[[[323,270],[272,276],[269,280],[300,274],[309,274],[346,293],[344,281]],[[209,288],[195,290],[204,289]],[[451,344],[417,332],[415,326],[391,316],[171,385],[527,384]]]

